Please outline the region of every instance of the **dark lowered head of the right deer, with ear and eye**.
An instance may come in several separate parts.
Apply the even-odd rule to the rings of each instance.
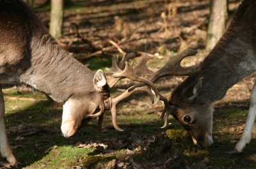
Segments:
[[[213,143],[213,108],[207,99],[195,104],[196,96],[198,96],[202,87],[203,78],[199,76],[198,80],[193,81],[189,86],[184,86],[184,84],[188,84],[188,80],[190,78],[184,80],[182,84],[172,91],[169,104],[175,105],[175,110],[172,112],[173,117],[191,134],[198,145],[206,148]],[[204,118],[202,118],[202,115],[204,115]]]

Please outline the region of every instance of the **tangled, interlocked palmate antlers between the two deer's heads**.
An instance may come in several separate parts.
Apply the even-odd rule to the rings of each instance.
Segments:
[[[168,62],[163,66],[163,68],[159,69],[155,73],[151,70],[149,70],[146,66],[146,63],[149,59],[152,59],[152,57],[149,57],[148,55],[143,55],[141,61],[134,67],[133,62],[129,65],[127,61],[133,57],[135,57],[134,54],[125,54],[122,61],[118,63],[118,57],[113,57],[113,68],[112,70],[108,71],[108,73],[113,73],[113,78],[108,82],[109,87],[113,87],[118,80],[122,78],[129,78],[131,80],[141,82],[140,84],[133,85],[129,89],[127,89],[124,93],[122,93],[120,96],[116,98],[108,98],[105,102],[105,107],[108,110],[111,110],[112,115],[112,122],[113,126],[118,131],[124,131],[123,129],[120,129],[116,122],[116,105],[124,100],[125,98],[129,97],[132,93],[136,91],[146,91],[148,95],[150,96],[150,99],[152,103],[156,104],[157,101],[161,100],[164,102],[164,110],[161,115],[161,119],[163,119],[164,115],[164,128],[167,124],[167,119],[169,114],[173,114],[175,112],[175,107],[170,106],[168,104],[168,100],[159,94],[159,91],[157,90],[156,86],[154,85],[154,82],[161,78],[161,77],[167,77],[172,75],[191,75],[193,73],[199,73],[200,71],[200,64],[201,62],[198,62],[194,66],[187,66],[183,67],[180,66],[180,62],[185,57],[188,57],[190,55],[195,55],[197,53],[196,50],[193,49],[186,49],[180,54],[177,54],[175,56],[169,55]],[[149,80],[139,77],[142,75],[150,76]],[[156,94],[156,100],[154,100],[154,94],[152,93],[152,90],[154,91],[154,94]],[[99,116],[99,122],[98,122],[98,131],[101,131],[102,126],[102,119],[103,114]]]

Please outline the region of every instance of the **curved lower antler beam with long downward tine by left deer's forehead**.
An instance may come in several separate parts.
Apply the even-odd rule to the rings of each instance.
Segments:
[[[111,117],[112,117],[112,123],[114,128],[117,131],[124,131],[123,129],[120,129],[117,125],[116,122],[116,105],[124,100],[125,98],[129,97],[132,93],[136,92],[136,91],[146,91],[148,93],[148,95],[150,95],[151,101],[153,99],[154,101],[154,96],[153,93],[150,89],[150,87],[148,87],[148,85],[143,85],[141,87],[138,87],[137,85],[133,85],[132,87],[130,87],[129,89],[127,89],[125,92],[123,92],[120,96],[117,96],[116,98],[109,98],[109,101],[111,102]],[[153,102],[152,101],[152,102]]]

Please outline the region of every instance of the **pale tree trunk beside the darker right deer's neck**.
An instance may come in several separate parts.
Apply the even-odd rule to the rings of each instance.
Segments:
[[[225,31],[228,18],[227,1],[211,0],[210,18],[207,29],[206,49],[211,50]]]

